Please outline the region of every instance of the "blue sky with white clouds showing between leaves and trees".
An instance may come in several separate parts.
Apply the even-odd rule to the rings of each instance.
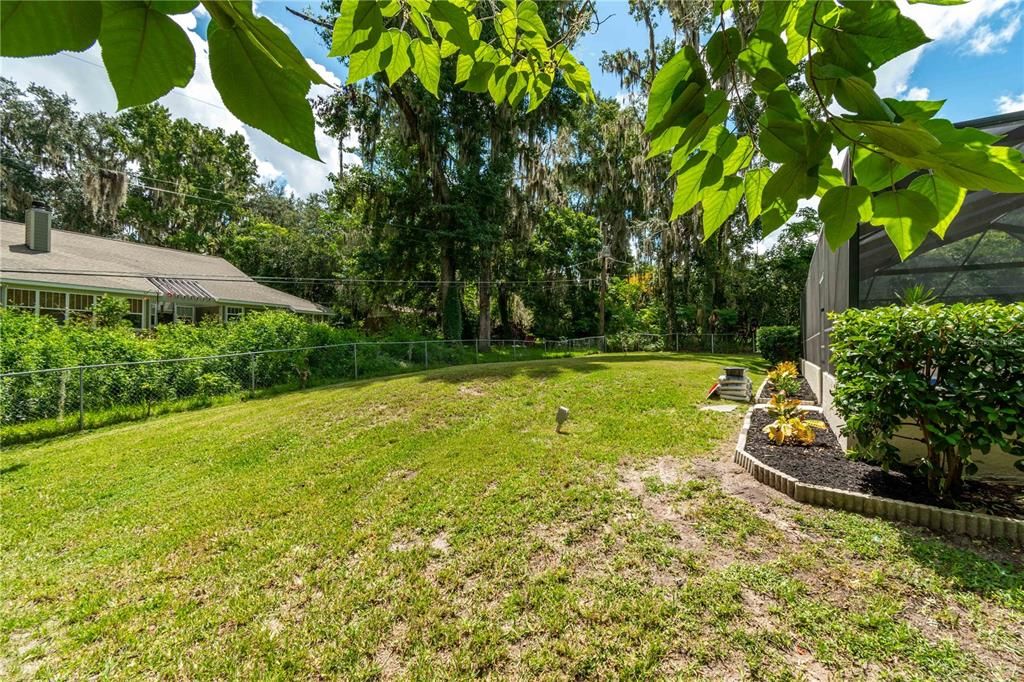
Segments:
[[[1024,0],[972,0],[952,7],[898,1],[933,42],[883,66],[878,75],[883,96],[946,99],[940,116],[953,121],[1024,110]],[[289,34],[325,80],[338,86],[345,79],[344,65],[327,56],[328,48],[312,25],[287,10],[310,10],[310,5],[315,10],[318,4],[310,0],[257,0],[255,7],[256,13],[269,17]],[[627,2],[598,0],[597,7],[603,23],[596,33],[585,36],[573,52],[590,70],[595,89],[615,96],[622,94],[620,84],[613,76],[601,73],[601,54],[625,47],[642,49],[646,35],[629,16]],[[327,188],[329,173],[341,162],[337,141],[317,130],[319,163],[238,121],[224,109],[213,87],[205,38],[209,16],[200,6],[193,14],[174,18],[196,46],[196,75],[187,87],[176,88],[160,102],[173,116],[242,133],[257,160],[261,179],[280,182],[298,196]],[[663,26],[658,32],[666,35],[668,30]],[[35,82],[67,93],[83,112],[113,114],[117,110],[96,45],[74,54],[0,58],[0,76],[23,87]],[[314,86],[309,96],[329,93],[331,85]],[[345,162],[357,160],[346,153]]]

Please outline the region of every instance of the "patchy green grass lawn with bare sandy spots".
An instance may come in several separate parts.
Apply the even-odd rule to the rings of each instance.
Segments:
[[[1021,679],[1019,551],[764,488],[741,412],[697,410],[733,363],[459,367],[5,449],[0,677]]]

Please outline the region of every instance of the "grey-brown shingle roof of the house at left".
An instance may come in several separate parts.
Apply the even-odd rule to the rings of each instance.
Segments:
[[[223,258],[54,229],[50,251],[25,246],[25,224],[0,221],[0,280],[141,296],[165,295],[148,278],[189,280],[219,302],[323,312],[315,303],[254,282]],[[37,270],[35,272],[15,270]],[[42,270],[51,270],[50,272]]]

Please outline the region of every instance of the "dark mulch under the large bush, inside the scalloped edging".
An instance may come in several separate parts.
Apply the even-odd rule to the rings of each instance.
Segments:
[[[881,467],[846,458],[829,429],[817,431],[813,445],[776,445],[762,430],[773,420],[767,410],[755,410],[746,433],[746,452],[764,464],[805,483],[866,493],[891,500],[916,502],[962,511],[1024,518],[1024,485],[967,481],[955,501],[936,500],[925,481],[910,468],[883,471]]]

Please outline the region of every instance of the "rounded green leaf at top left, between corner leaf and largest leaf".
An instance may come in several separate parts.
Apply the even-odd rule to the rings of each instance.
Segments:
[[[147,104],[184,87],[196,71],[188,36],[144,2],[104,3],[99,46],[118,109]]]

